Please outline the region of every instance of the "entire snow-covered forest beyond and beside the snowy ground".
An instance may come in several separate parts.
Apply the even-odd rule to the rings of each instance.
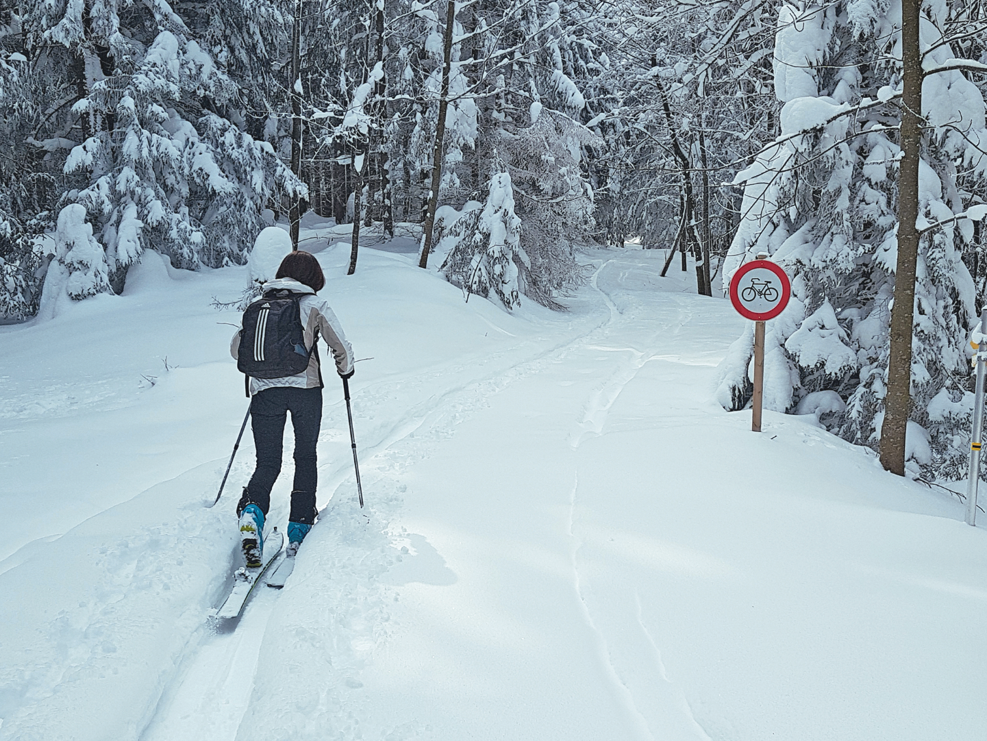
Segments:
[[[583,246],[666,250],[706,296],[766,253],[793,278],[766,408],[876,447],[910,207],[896,413],[913,475],[960,478],[984,18],[982,0],[2,0],[0,321],[120,293],[146,250],[242,264],[275,221],[297,244],[309,211],[351,224],[349,273],[361,230],[406,230],[420,266],[507,310],[564,310]],[[751,347],[721,364],[724,408],[749,402]]]

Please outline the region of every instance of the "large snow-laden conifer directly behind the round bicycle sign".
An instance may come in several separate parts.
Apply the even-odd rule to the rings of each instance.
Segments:
[[[946,33],[951,12],[940,2],[923,9],[928,127],[909,423],[910,470],[942,477],[961,475],[968,450],[968,409],[960,414],[954,405],[967,399],[964,344],[975,312],[960,259],[972,225],[951,221],[969,197],[956,188],[957,166],[967,177],[987,170],[983,98],[960,71],[934,71],[955,55]],[[898,23],[886,4],[782,8],[775,42],[782,135],[736,179],[744,184],[742,221],[723,273],[725,286],[739,264],[766,252],[793,277],[789,308],[769,323],[765,407],[794,411],[813,393],[833,392],[846,407],[830,414],[829,426],[872,447],[883,413],[896,260]],[[748,399],[749,334],[721,365],[725,408]]]

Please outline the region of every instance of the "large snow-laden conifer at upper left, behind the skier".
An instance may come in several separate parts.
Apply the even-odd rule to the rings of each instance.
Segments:
[[[219,114],[239,89],[172,7],[123,9],[48,0],[26,21],[35,47],[79,60],[64,200],[85,207],[117,291],[148,247],[193,269],[242,262],[268,200],[304,193],[269,144]]]

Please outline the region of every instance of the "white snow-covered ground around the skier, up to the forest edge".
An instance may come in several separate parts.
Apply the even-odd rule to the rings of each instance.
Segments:
[[[0,738],[981,738],[987,540],[811,417],[712,401],[744,320],[587,253],[514,314],[311,225],[358,358],[320,522],[234,630],[246,268],[148,253],[120,297],[0,328]],[[339,241],[338,241],[339,240]],[[288,433],[290,435],[290,433]],[[270,520],[283,525],[290,441]]]

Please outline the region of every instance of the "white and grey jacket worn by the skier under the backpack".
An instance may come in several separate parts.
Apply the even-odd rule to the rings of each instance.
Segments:
[[[312,342],[318,332],[336,361],[336,369],[341,376],[349,374],[353,370],[353,348],[349,346],[345,335],[342,333],[340,320],[329,308],[329,303],[315,295],[315,291],[304,283],[299,283],[293,278],[276,278],[268,280],[264,284],[264,290],[287,289],[293,293],[305,294],[298,302],[298,309],[301,312],[302,325],[305,327],[305,347],[311,349]],[[261,299],[257,299],[260,301]],[[242,328],[237,330],[230,342],[230,354],[234,358],[238,357],[240,348],[240,333]],[[290,386],[297,389],[314,389],[320,386],[319,382],[319,358],[316,353],[312,353],[308,368],[294,376],[283,378],[251,378],[250,394],[254,396],[259,391],[264,391],[275,386]]]

